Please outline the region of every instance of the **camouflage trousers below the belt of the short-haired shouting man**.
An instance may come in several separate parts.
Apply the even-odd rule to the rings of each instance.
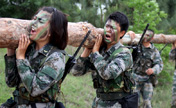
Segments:
[[[117,101],[103,101],[96,97],[93,101],[92,108],[122,108],[122,106]]]

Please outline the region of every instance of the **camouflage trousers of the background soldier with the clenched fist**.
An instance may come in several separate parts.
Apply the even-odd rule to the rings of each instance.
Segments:
[[[150,82],[136,82],[135,92],[139,94],[139,108],[152,108],[153,85]],[[142,96],[143,102],[140,101]]]

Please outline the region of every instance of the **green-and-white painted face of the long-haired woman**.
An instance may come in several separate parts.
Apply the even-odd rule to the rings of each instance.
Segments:
[[[40,11],[32,20],[29,37],[31,40],[38,40],[47,34],[51,14],[46,11]]]

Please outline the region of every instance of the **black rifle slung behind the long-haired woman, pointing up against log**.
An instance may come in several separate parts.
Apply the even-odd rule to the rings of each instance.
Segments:
[[[65,77],[67,76],[67,74],[70,72],[70,70],[72,69],[73,65],[76,63],[76,55],[78,54],[79,50],[81,49],[82,45],[84,44],[84,42],[86,41],[86,39],[88,38],[89,34],[91,33],[91,30],[89,30],[86,34],[86,36],[84,37],[83,41],[81,42],[81,44],[79,45],[79,47],[77,48],[76,52],[73,54],[73,56],[69,56],[69,59],[67,60],[67,63],[65,65],[65,71],[64,71],[64,75],[62,77],[62,82],[64,81]]]

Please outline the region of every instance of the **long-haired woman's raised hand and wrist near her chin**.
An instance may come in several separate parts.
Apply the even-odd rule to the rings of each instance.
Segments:
[[[29,38],[25,34],[23,34],[20,37],[19,44],[18,44],[18,49],[16,53],[17,59],[25,59],[25,53],[29,44],[30,44]]]

